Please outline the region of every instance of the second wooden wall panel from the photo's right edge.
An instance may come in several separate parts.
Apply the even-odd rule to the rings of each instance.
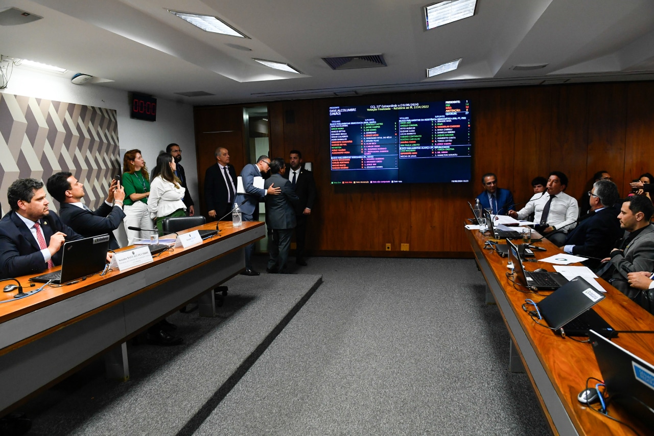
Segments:
[[[627,141],[627,84],[591,85],[588,94],[588,159],[583,192],[593,189],[594,173],[606,170],[621,195],[625,180]],[[627,175],[628,179],[632,177]]]

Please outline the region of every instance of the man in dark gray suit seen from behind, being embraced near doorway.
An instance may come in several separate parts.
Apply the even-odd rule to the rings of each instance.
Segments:
[[[266,196],[266,221],[273,229],[273,240],[268,244],[270,259],[266,272],[269,274],[286,274],[290,238],[296,226],[295,208],[300,201],[292,183],[284,179],[285,171],[284,159],[274,158],[270,162],[272,175],[264,182],[266,189],[275,184],[281,187],[281,194]]]

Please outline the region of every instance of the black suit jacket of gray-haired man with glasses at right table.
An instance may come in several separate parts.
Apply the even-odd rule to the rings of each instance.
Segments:
[[[619,211],[613,207],[593,213],[568,234],[563,245],[574,245],[572,247],[574,255],[599,259],[609,257],[611,249],[615,247],[615,241],[619,240],[625,232],[620,228],[618,213]],[[588,263],[598,265],[599,261],[589,259]]]

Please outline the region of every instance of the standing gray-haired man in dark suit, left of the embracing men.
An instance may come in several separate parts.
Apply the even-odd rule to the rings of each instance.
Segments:
[[[230,165],[230,152],[225,147],[218,147],[214,153],[216,164],[207,168],[205,173],[205,202],[209,217],[231,221],[225,216],[234,207],[238,179],[234,167]]]

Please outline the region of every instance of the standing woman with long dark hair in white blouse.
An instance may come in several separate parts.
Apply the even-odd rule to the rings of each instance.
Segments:
[[[167,217],[186,216],[182,184],[175,177],[175,159],[169,153],[157,157],[157,166],[152,171],[148,211],[150,218],[156,220],[157,228],[162,231],[163,219]]]

